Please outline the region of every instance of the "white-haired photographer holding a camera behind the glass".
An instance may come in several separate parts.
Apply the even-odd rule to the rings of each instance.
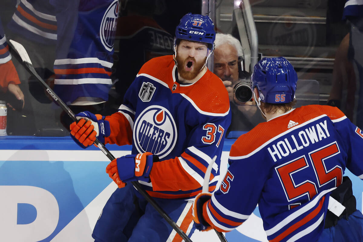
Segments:
[[[243,68],[241,43],[231,34],[216,34],[213,72],[223,81],[229,95],[232,110],[229,138],[240,135],[230,131],[249,131],[264,121],[252,99],[250,73]]]

